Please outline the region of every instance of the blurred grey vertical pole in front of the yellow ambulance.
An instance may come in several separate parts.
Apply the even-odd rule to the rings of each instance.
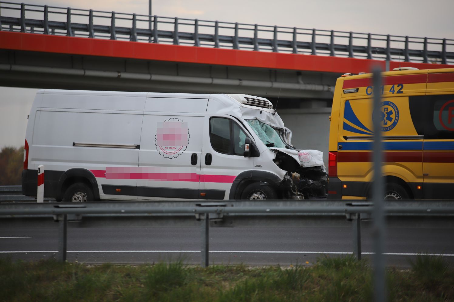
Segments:
[[[383,251],[385,248],[385,219],[384,219],[384,182],[381,176],[381,163],[383,162],[383,142],[381,138],[380,110],[381,110],[381,68],[373,69],[374,102],[373,102],[373,121],[374,121],[374,289],[375,301],[385,301],[385,258]]]

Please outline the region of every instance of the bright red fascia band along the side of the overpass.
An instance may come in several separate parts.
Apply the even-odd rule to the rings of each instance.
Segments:
[[[0,31],[0,49],[329,73],[370,72],[371,67],[376,65],[385,69],[385,61],[361,58],[282,54],[6,31]],[[453,67],[428,63],[400,64],[419,69]],[[391,61],[390,70],[396,67],[399,67],[399,62]]]

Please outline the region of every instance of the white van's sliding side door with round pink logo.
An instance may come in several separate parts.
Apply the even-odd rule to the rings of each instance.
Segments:
[[[207,100],[148,97],[143,116],[138,200],[198,199]],[[200,110],[198,110],[198,109]],[[167,112],[163,112],[166,110]]]

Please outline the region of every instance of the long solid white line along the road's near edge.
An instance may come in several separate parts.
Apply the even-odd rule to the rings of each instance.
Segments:
[[[0,251],[0,253],[58,253],[58,251]],[[67,251],[67,253],[200,253],[197,250],[143,250],[143,251]],[[271,254],[352,254],[351,252],[301,252],[301,251],[210,251],[210,253],[271,253]],[[373,255],[373,252],[363,252],[362,255]],[[383,253],[390,256],[445,256],[454,257],[454,254],[441,253]]]

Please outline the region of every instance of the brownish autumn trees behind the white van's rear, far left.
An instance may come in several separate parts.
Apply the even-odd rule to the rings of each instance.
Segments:
[[[3,147],[0,151],[0,185],[22,185],[24,147]]]

